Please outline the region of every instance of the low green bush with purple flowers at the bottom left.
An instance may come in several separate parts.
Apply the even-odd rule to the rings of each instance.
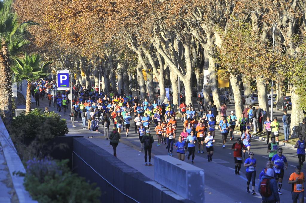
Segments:
[[[100,188],[71,174],[66,163],[67,160],[29,160],[25,189],[39,203],[99,203]]]

